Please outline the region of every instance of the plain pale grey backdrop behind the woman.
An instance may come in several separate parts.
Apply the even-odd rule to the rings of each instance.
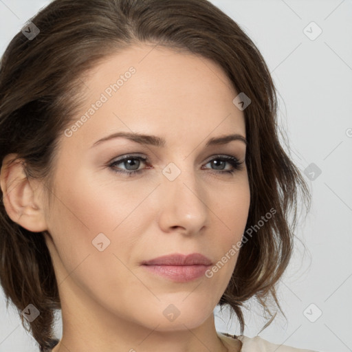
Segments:
[[[241,25],[270,67],[279,121],[313,193],[311,212],[296,232],[306,250],[296,241],[278,291],[287,320],[278,314],[259,336],[316,351],[352,351],[352,1],[211,2]],[[47,3],[0,0],[1,54]],[[265,320],[254,300],[247,307],[244,334],[252,337]],[[239,334],[227,311],[215,314],[218,331]],[[5,309],[1,290],[0,317],[0,352],[39,351],[14,309]],[[60,312],[57,318],[60,338]]]

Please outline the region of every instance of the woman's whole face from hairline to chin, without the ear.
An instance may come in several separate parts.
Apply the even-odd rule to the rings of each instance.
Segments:
[[[60,137],[45,214],[61,300],[153,329],[197,327],[230,281],[248,217],[238,93],[212,61],[146,45],[100,63],[85,87]],[[142,265],[195,253],[210,265]]]

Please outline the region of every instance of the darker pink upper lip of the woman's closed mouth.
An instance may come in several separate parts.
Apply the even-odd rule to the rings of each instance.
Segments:
[[[142,265],[211,265],[212,261],[200,253],[170,254],[158,256],[150,261],[143,261]]]

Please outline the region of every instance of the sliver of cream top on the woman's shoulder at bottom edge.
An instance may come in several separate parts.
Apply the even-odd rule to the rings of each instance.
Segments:
[[[317,352],[308,349],[296,349],[284,344],[272,344],[259,336],[248,338],[244,335],[232,336],[228,333],[219,332],[218,336],[228,347],[229,352]]]

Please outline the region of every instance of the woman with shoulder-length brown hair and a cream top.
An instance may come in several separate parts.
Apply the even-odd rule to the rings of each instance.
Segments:
[[[243,335],[241,306],[265,327],[267,298],[281,310],[309,191],[239,25],[206,0],[55,0],[5,51],[0,94],[0,279],[41,351],[278,349]]]

